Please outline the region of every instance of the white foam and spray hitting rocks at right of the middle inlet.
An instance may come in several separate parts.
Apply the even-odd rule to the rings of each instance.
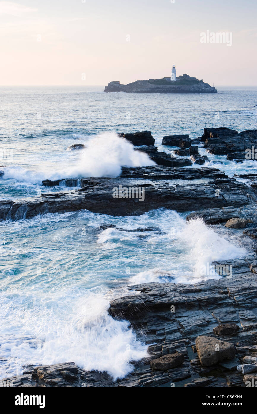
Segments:
[[[204,276],[201,269],[203,266],[207,267],[207,263],[211,265],[216,260],[240,258],[247,254],[247,250],[234,243],[233,238],[228,239],[225,234],[214,231],[202,219],[186,222],[176,212],[172,214],[174,221],[170,222],[170,231],[163,236],[153,235],[147,241],[160,251],[163,244],[169,244],[172,250],[170,256],[163,258],[158,267],[155,265],[150,270],[130,277],[131,284],[170,281],[196,283],[200,280],[220,279],[221,276],[217,274]],[[163,218],[165,219],[165,214]],[[161,227],[166,226],[167,231],[166,219],[159,224]]]

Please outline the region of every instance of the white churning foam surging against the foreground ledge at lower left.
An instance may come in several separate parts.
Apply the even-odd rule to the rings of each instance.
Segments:
[[[68,292],[65,297],[26,297],[18,292],[15,296],[12,301],[1,298],[0,356],[8,363],[2,364],[0,378],[22,373],[28,363],[64,361],[122,378],[133,369],[130,361],[147,354],[147,346],[136,340],[129,323],[108,315],[108,301],[100,294],[76,301]]]

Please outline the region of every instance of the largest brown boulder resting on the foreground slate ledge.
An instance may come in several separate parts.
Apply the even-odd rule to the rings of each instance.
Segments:
[[[196,338],[196,351],[201,364],[205,366],[214,365],[224,359],[232,359],[236,355],[233,344],[204,335]]]

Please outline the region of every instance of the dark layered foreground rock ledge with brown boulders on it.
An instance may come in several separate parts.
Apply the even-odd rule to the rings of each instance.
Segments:
[[[257,380],[257,277],[244,267],[256,259],[237,261],[231,279],[129,286],[132,295],[112,301],[110,315],[129,320],[149,344],[149,356],[132,362],[126,378],[66,362],[27,366],[8,380],[14,387],[245,387]]]

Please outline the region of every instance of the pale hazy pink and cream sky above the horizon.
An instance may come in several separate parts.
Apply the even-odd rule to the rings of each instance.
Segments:
[[[257,85],[256,21],[256,0],[0,1],[0,84],[128,83],[174,63],[211,85]],[[200,43],[207,31],[232,46]]]

